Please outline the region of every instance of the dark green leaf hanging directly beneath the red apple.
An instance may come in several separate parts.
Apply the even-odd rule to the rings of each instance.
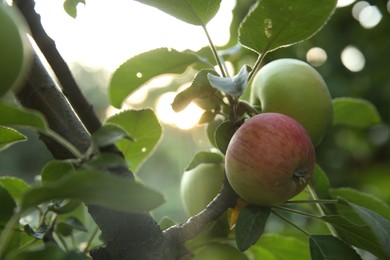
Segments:
[[[236,244],[241,251],[257,242],[264,232],[271,208],[247,205],[240,210],[236,223]]]

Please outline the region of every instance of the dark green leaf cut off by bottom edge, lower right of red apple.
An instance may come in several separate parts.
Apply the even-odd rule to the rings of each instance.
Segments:
[[[352,247],[331,235],[310,236],[309,244],[313,260],[361,259]]]

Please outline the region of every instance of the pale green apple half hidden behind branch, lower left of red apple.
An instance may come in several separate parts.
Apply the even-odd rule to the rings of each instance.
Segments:
[[[223,164],[202,163],[184,172],[180,193],[189,216],[201,212],[218,194],[224,179]]]

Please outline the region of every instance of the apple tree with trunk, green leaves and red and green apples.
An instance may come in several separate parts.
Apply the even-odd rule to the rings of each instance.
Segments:
[[[137,176],[164,135],[154,110],[99,118],[34,1],[1,1],[0,149],[23,145],[21,129],[29,128],[52,160],[31,183],[0,177],[0,258],[389,259],[389,204],[332,186],[324,159],[351,137],[334,144],[329,136],[367,139],[362,133],[384,125],[382,113],[332,87],[329,73],[296,54],[313,39],[331,44],[315,37],[342,12],[337,1],[237,1],[225,46],[207,30],[221,0],[137,1],[202,28],[209,41],[200,50],[138,54],[107,86],[110,104],[121,109],[154,78],[190,75],[172,109],[202,109],[198,124],[210,149],[193,155],[176,187],[188,219],[158,223],[152,211],[165,202],[164,191]],[[64,11],[76,17],[80,3],[65,0]]]

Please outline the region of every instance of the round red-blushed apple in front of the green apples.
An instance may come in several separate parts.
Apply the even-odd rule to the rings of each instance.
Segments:
[[[230,140],[226,175],[245,201],[273,206],[299,194],[310,181],[315,152],[301,124],[279,113],[248,119]]]

